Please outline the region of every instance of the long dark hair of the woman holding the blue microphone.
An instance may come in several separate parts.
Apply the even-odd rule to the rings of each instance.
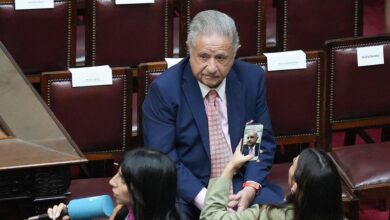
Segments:
[[[179,219],[175,208],[176,169],[168,156],[137,148],[126,152],[120,169],[132,197],[135,220]],[[125,219],[126,215],[124,207],[117,217]]]

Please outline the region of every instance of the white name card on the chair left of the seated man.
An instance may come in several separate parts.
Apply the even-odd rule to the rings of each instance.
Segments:
[[[69,68],[72,73],[72,86],[112,85],[112,70],[108,65]]]

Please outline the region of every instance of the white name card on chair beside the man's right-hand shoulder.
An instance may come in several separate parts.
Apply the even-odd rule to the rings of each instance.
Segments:
[[[264,53],[268,71],[306,68],[306,54],[302,50]]]

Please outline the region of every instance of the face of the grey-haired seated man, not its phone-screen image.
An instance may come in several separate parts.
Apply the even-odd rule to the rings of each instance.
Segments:
[[[234,62],[231,40],[216,34],[199,35],[190,51],[190,64],[195,78],[210,88],[218,87]]]

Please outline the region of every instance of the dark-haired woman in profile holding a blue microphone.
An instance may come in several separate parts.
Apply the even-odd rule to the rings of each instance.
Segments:
[[[117,207],[114,220],[179,220],[176,212],[176,169],[171,159],[156,150],[137,148],[126,152],[110,180]],[[48,209],[58,217],[65,204]],[[70,219],[64,216],[63,220]]]

